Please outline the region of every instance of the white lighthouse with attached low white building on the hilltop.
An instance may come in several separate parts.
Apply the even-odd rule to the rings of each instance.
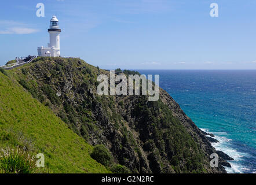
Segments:
[[[48,32],[50,34],[50,43],[48,43],[48,47],[38,47],[38,56],[60,57],[61,29],[58,27],[58,19],[56,16],[53,16],[50,20]]]

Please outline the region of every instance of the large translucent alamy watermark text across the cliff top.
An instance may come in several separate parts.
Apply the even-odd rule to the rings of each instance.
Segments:
[[[97,82],[101,82],[97,86],[98,95],[149,95],[148,101],[159,100],[159,75],[155,75],[155,83],[153,84],[153,75],[116,75],[115,71],[110,71],[110,80],[107,75],[99,75]],[[119,82],[115,85],[116,82]],[[140,83],[141,82],[141,83]],[[109,84],[110,83],[110,84]],[[140,86],[141,85],[141,86]],[[128,86],[128,91],[127,91]],[[141,93],[140,93],[141,90]]]

